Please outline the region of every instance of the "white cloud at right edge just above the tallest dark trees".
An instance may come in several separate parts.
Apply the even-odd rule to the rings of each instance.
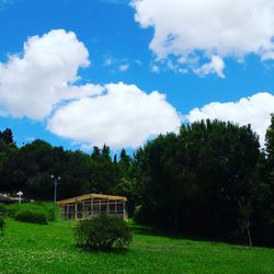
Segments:
[[[193,123],[205,118],[220,119],[251,124],[251,127],[260,136],[261,145],[264,145],[266,128],[271,123],[271,113],[274,111],[274,95],[260,92],[250,98],[242,98],[238,102],[210,103],[201,109],[192,110],[186,118]]]

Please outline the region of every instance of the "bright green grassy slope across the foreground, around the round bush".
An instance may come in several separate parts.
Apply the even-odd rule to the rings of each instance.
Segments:
[[[128,252],[87,253],[73,246],[72,222],[8,220],[0,273],[274,273],[274,250],[248,249],[136,231]]]

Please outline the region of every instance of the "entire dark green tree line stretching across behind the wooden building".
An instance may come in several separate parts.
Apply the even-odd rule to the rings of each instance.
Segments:
[[[85,193],[125,195],[134,218],[174,232],[274,247],[274,115],[260,148],[251,127],[219,121],[182,125],[133,156],[91,155],[34,140],[19,148],[0,132],[0,192],[52,199]]]

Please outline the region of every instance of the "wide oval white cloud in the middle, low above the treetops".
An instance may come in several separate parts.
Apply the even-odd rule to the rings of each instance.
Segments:
[[[180,124],[163,94],[147,94],[119,82],[106,84],[101,95],[61,106],[48,121],[48,129],[78,142],[136,148],[151,136],[178,130]]]

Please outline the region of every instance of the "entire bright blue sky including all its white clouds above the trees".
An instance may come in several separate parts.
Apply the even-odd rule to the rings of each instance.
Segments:
[[[184,2],[0,0],[0,130],[12,128],[18,145],[116,150],[209,117],[251,123],[263,144],[274,112],[274,4]]]

